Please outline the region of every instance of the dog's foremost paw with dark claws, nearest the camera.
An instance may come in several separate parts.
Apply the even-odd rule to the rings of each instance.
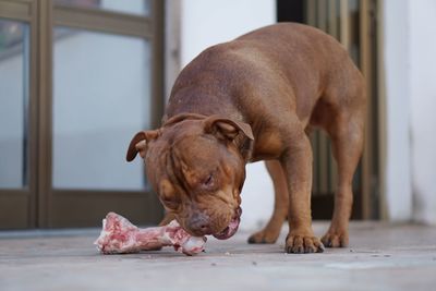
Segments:
[[[289,233],[284,251],[288,254],[323,253],[324,245],[318,238],[307,234]]]

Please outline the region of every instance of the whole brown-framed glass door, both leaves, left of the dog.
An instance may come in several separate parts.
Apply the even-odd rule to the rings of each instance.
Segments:
[[[161,15],[158,0],[0,0],[0,229],[159,220],[125,153],[160,123]]]

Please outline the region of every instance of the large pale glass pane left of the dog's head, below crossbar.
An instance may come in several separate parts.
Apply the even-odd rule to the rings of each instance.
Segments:
[[[58,27],[53,45],[53,186],[140,190],[143,163],[125,161],[150,125],[149,44]]]

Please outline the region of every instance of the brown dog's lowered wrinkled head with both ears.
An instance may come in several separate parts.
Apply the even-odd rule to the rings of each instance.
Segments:
[[[126,159],[140,151],[166,210],[187,232],[228,239],[238,230],[253,140],[246,123],[179,116],[158,130],[137,133]]]

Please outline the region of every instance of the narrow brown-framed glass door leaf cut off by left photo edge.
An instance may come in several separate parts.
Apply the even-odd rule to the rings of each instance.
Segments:
[[[34,8],[0,1],[0,228],[36,223]]]

